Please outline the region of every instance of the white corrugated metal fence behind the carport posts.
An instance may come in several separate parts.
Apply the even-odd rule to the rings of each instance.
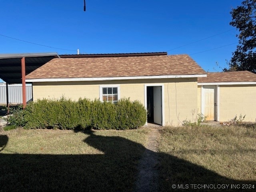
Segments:
[[[22,103],[22,85],[8,85],[9,103]],[[32,85],[26,84],[26,102],[32,101]],[[6,85],[0,85],[0,103],[6,104]]]

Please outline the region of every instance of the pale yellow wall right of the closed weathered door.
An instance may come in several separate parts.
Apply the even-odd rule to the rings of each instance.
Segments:
[[[246,115],[244,121],[255,122],[256,85],[220,86],[220,121],[240,114]]]

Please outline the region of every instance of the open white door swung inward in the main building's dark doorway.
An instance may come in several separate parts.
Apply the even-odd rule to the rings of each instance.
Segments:
[[[154,123],[162,125],[162,86],[153,87]]]

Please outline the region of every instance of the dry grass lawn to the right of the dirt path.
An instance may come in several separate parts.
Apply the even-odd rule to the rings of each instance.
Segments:
[[[256,190],[255,125],[166,127],[161,133],[161,191],[172,191],[172,184],[254,184],[248,191]]]

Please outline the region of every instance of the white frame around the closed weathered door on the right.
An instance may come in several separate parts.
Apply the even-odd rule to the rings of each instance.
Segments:
[[[219,85],[213,85],[216,86],[216,115],[214,114],[214,121],[220,121],[220,86]],[[201,113],[204,114],[204,106],[205,99],[204,99],[204,85],[201,85]]]

